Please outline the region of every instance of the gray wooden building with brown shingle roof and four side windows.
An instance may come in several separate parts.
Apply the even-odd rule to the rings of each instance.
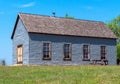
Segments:
[[[19,13],[11,39],[13,65],[116,64],[116,36],[103,22]]]

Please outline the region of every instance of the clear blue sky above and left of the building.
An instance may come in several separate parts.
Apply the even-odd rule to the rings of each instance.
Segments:
[[[18,12],[108,22],[120,14],[120,0],[0,0],[0,60],[12,64],[10,39]]]

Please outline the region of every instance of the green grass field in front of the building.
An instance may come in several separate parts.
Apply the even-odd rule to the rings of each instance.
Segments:
[[[0,84],[120,84],[120,66],[1,66]]]

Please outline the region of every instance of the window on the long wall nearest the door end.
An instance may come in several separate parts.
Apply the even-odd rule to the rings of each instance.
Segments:
[[[48,42],[43,42],[43,59],[44,60],[50,60],[51,57],[51,46]]]

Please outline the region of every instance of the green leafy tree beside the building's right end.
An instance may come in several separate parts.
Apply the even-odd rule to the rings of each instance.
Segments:
[[[120,43],[120,15],[110,21],[107,25],[118,37],[117,42]]]

